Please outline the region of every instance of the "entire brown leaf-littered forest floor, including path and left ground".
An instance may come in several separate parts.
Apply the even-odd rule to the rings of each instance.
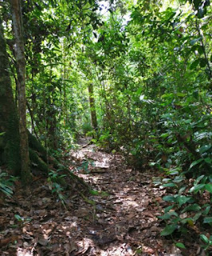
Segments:
[[[68,195],[64,207],[44,178],[35,178],[27,191],[17,184],[14,197],[0,202],[1,256],[197,255],[191,237],[189,250],[181,251],[160,236],[167,191],[152,184],[159,173],[133,170],[120,154],[107,154],[86,139],[68,162],[91,194],[61,191]]]

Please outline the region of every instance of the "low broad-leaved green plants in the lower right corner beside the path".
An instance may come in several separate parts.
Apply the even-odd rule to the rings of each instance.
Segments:
[[[170,179],[168,179],[168,182],[169,180]],[[163,182],[157,181],[155,184],[160,185]],[[212,226],[212,218],[210,217],[210,202],[212,193],[211,176],[199,176],[194,180],[192,186],[189,186],[190,188],[185,185],[185,180],[182,178],[182,176],[176,176],[174,179],[172,179],[172,182],[173,184],[178,185],[178,194],[170,194],[163,197],[163,200],[169,202],[171,205],[167,206],[164,209],[164,214],[159,217],[163,219],[164,222],[166,222],[166,227],[161,232],[161,235],[173,236],[175,232],[185,235],[189,232],[190,227],[196,225]],[[210,202],[202,204],[202,196],[206,191],[210,193]],[[201,234],[200,238],[203,242],[205,242],[203,248],[205,250],[209,249],[211,245],[211,238],[206,238],[204,234]]]

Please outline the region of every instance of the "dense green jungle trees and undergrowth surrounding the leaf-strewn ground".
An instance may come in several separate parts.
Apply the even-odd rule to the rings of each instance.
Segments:
[[[65,158],[90,138],[166,190],[161,236],[201,226],[210,255],[210,0],[2,0],[0,26],[1,197],[40,176],[64,207],[68,176],[86,194]]]

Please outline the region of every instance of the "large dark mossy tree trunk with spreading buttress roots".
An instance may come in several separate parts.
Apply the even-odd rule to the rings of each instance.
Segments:
[[[6,54],[6,42],[4,39],[2,20],[0,18],[0,166],[6,165],[10,174],[22,175],[21,154],[20,154],[20,138],[18,129],[18,112],[14,104],[14,95],[10,81],[9,59]],[[68,168],[61,165],[57,159],[47,155],[47,150],[41,146],[32,134],[29,134],[29,150],[30,162],[33,168],[37,168],[42,174],[48,175],[49,166],[53,165],[56,170],[65,171],[73,179],[73,183],[79,187],[79,190],[88,190],[88,185],[81,178],[71,173]],[[28,136],[26,136],[28,138]],[[30,171],[29,176],[30,177]],[[26,179],[24,180],[26,182]]]

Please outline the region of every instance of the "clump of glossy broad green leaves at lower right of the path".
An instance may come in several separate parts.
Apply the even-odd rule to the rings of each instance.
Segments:
[[[197,227],[196,233],[203,242],[202,247],[206,251],[210,249],[212,236],[204,233],[202,227],[205,227],[205,230],[211,230],[212,226],[211,182],[212,175],[201,175],[188,182],[182,174],[155,181],[155,185],[172,192],[163,197],[163,201],[169,206],[163,209],[164,214],[159,217],[166,223],[161,232],[162,236],[171,235],[175,240],[179,236],[185,237],[186,234],[196,230],[194,227]]]

